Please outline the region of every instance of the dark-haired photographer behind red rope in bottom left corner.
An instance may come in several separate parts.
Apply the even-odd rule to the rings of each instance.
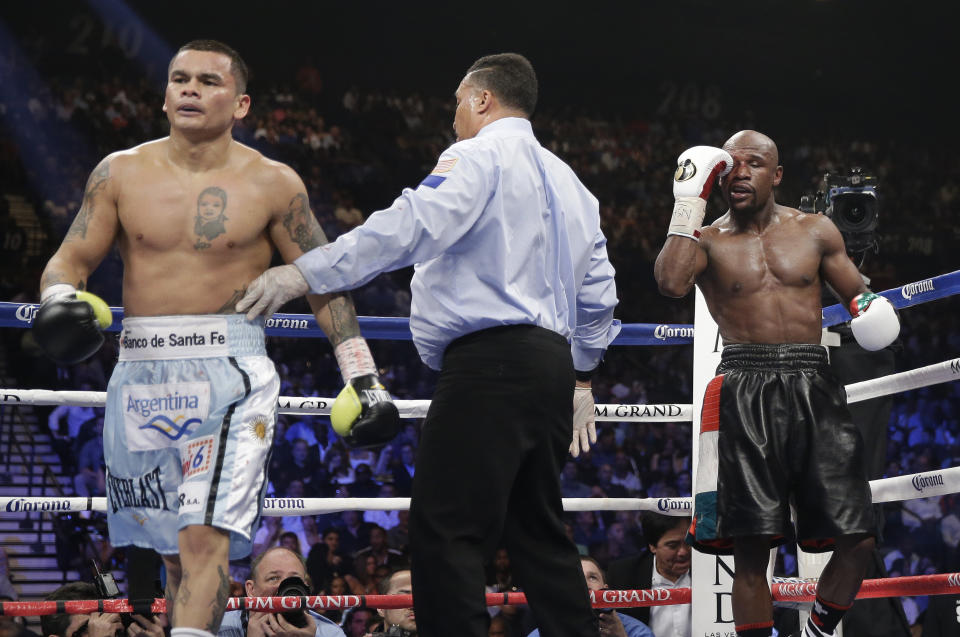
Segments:
[[[99,599],[93,584],[71,582],[47,595],[47,600]],[[88,613],[85,615],[44,615],[40,628],[45,637],[164,637],[167,616],[163,613],[147,619],[130,614],[133,620],[126,629],[119,613]]]

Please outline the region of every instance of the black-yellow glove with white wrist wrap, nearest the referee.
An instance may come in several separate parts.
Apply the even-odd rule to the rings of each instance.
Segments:
[[[330,423],[354,449],[376,447],[400,433],[400,412],[380,382],[367,342],[347,339],[334,349],[345,385],[330,409]]]

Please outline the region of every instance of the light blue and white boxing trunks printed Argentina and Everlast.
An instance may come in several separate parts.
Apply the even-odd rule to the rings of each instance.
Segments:
[[[230,559],[245,557],[280,393],[262,321],[127,318],[119,359],[103,428],[110,542],[169,555],[199,524],[229,531]]]

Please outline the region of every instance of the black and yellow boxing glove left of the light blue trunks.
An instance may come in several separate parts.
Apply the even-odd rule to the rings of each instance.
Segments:
[[[103,299],[61,283],[43,291],[33,319],[33,338],[54,362],[72,365],[100,349],[101,330],[111,323],[113,315]]]

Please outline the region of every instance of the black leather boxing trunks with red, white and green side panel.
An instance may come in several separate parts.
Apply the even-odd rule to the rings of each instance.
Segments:
[[[819,345],[727,345],[707,385],[688,541],[731,554],[733,539],[796,537],[808,552],[875,533],[863,441]]]

